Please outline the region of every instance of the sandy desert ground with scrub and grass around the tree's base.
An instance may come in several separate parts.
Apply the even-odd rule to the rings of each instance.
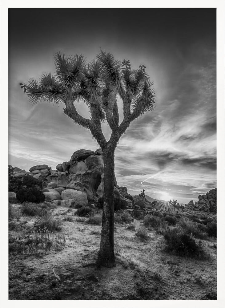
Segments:
[[[216,298],[215,214],[115,212],[116,266],[98,268],[102,210],[78,210],[10,204],[9,299]]]

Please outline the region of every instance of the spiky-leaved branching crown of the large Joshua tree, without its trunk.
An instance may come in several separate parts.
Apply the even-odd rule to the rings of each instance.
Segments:
[[[100,49],[96,59],[86,63],[83,55],[65,56],[56,53],[55,74],[43,74],[38,81],[30,79],[21,83],[30,102],[46,101],[64,103],[64,113],[75,123],[90,128],[98,141],[102,138],[101,121],[107,120],[110,129],[119,138],[131,121],[153,110],[155,94],[153,83],[145,72],[145,66],[132,69],[130,60],[116,60],[110,52]],[[124,120],[119,126],[118,96],[123,102]],[[85,102],[90,110],[90,120],[78,114],[74,101]],[[97,129],[99,130],[98,133]]]

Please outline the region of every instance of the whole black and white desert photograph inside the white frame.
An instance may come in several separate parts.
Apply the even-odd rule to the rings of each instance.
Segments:
[[[222,307],[217,10],[8,8],[8,300]]]

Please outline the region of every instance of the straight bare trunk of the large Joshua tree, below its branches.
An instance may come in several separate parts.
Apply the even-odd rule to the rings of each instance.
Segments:
[[[107,144],[103,150],[104,193],[102,213],[102,234],[98,254],[98,265],[112,267],[114,259],[114,153],[115,147]]]

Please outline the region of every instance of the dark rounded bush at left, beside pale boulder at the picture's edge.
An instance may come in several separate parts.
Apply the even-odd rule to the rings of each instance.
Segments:
[[[40,203],[45,200],[45,195],[36,187],[19,189],[16,197],[20,202]]]

